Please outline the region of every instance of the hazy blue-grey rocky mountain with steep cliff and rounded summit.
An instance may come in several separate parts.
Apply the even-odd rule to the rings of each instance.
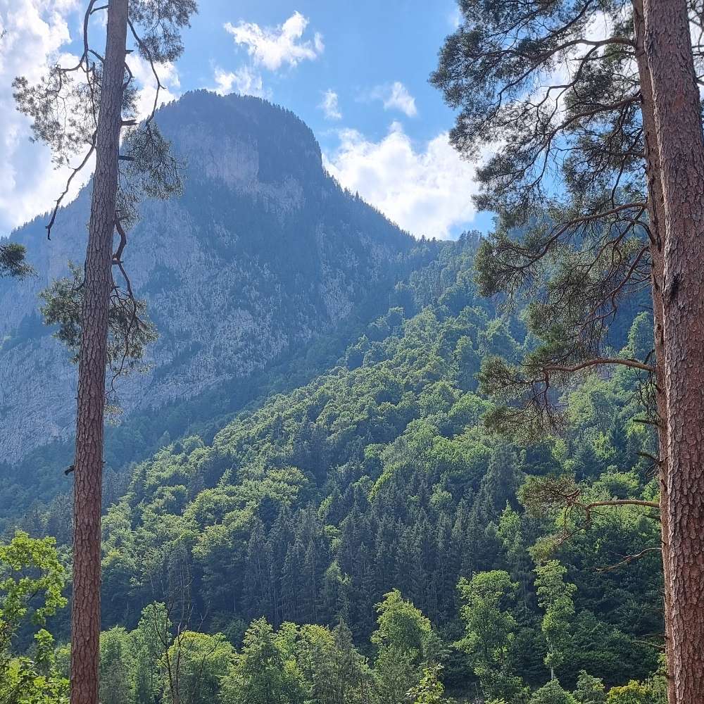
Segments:
[[[247,377],[334,329],[391,285],[412,240],[322,168],[312,132],[254,98],[187,94],[163,108],[187,164],[181,199],[147,202],[125,259],[160,339],[145,374],[118,387],[125,414]],[[0,282],[0,454],[5,462],[73,432],[75,368],[42,326],[37,294],[82,261],[89,192],[13,233],[38,277]]]

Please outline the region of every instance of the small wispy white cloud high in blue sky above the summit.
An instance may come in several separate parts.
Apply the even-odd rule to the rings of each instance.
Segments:
[[[225,30],[232,34],[236,44],[246,47],[255,65],[270,71],[284,65],[296,66],[301,61],[312,61],[325,50],[322,35],[316,32],[313,39],[303,39],[308,18],[294,12],[286,22],[277,27],[260,27],[253,22],[228,22]]]

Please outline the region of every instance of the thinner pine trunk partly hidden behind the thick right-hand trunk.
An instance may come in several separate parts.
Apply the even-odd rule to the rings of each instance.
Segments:
[[[660,155],[655,132],[653,84],[645,51],[645,24],[643,0],[633,1],[633,23],[636,38],[636,62],[641,84],[641,115],[645,146],[646,182],[648,188],[648,220],[650,227],[650,290],[653,298],[653,333],[655,348],[655,406],[658,413],[658,467],[660,481],[660,529],[662,546],[662,573],[664,582],[663,605],[665,612],[665,654],[667,657],[667,702],[676,704],[677,698],[672,677],[672,579],[670,578],[670,543],[667,520],[667,390],[665,388],[665,332],[662,289],[664,286],[665,206],[662,202]]]

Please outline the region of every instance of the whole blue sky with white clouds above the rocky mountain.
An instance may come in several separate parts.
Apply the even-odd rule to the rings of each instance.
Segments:
[[[0,234],[48,209],[61,182],[46,149],[27,142],[9,82],[75,51],[83,6],[0,0],[0,158],[9,165]],[[196,88],[265,96],[310,125],[342,184],[413,234],[484,230],[489,218],[471,203],[474,167],[448,146],[453,114],[427,82],[456,18],[455,0],[201,0],[184,56],[163,67],[166,97]],[[145,105],[150,91],[145,84]]]

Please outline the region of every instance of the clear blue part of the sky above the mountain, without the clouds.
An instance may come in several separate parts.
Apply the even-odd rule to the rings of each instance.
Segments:
[[[313,128],[323,146],[334,146],[332,137],[324,134],[329,122],[316,108],[321,92],[327,89],[339,95],[343,122],[371,139],[386,134],[389,118],[394,117],[403,119],[414,139],[432,139],[451,125],[451,112],[427,78],[444,37],[453,30],[453,0],[308,0],[294,5],[287,0],[209,0],[207,8],[201,3],[201,13],[184,37],[187,52],[180,61],[182,83],[190,87],[212,80],[213,64],[232,70],[247,62],[246,47],[235,44],[222,28],[225,23],[236,25],[244,20],[275,27],[294,11],[308,19],[303,39],[319,32],[325,49],[315,60],[301,61],[295,68],[276,73],[264,70],[265,86],[276,102],[291,108]],[[360,100],[375,87],[396,81],[415,98],[415,119],[384,111],[381,101],[372,106]]]

